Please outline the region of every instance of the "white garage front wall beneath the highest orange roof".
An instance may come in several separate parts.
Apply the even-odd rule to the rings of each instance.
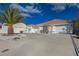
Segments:
[[[49,27],[50,33],[67,33],[68,25],[52,25]]]

